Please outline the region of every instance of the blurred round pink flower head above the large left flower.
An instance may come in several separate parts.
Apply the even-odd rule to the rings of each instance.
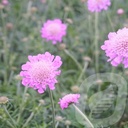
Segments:
[[[41,29],[41,36],[56,44],[57,41],[62,41],[62,37],[66,35],[66,29],[66,24],[63,24],[60,19],[48,20]]]

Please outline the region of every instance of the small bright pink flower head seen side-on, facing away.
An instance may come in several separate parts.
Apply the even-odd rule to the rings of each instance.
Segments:
[[[80,94],[68,94],[64,96],[58,102],[62,109],[68,108],[71,103],[78,103],[78,99],[80,98]]]

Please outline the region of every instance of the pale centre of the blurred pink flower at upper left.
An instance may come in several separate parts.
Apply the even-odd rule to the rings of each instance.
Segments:
[[[55,23],[50,24],[47,29],[51,35],[57,35],[60,32],[60,26]]]

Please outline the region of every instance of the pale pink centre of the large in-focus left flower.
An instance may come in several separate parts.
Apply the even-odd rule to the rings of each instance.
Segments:
[[[33,64],[29,73],[32,79],[34,79],[36,82],[42,83],[50,77],[51,68],[46,62],[36,62]]]

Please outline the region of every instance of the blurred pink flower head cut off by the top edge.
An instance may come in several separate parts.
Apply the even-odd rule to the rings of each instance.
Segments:
[[[102,10],[107,10],[111,2],[110,0],[88,0],[87,5],[89,11],[101,12]]]

